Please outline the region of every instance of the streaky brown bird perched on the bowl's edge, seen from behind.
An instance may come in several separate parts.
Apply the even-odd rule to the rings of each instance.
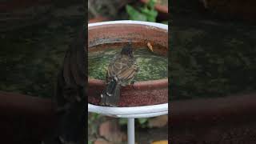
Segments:
[[[120,89],[134,83],[134,76],[138,73],[138,65],[134,58],[131,42],[122,47],[110,62],[106,70],[106,89],[102,90],[101,106],[118,106]]]

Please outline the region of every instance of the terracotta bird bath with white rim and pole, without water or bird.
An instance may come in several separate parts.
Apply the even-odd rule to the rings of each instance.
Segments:
[[[98,22],[88,25],[89,56],[94,51],[106,50],[108,47],[120,49],[127,42],[132,42],[135,49],[145,48],[150,42],[155,54],[167,57],[168,26],[138,21]],[[88,82],[89,112],[128,118],[128,144],[135,142],[134,118],[168,114],[168,78],[139,81],[133,86],[122,87],[120,107],[98,106],[100,94],[106,84],[103,80],[94,78],[89,78]]]

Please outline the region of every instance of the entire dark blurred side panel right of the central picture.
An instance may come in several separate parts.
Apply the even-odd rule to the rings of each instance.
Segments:
[[[172,142],[255,143],[256,2],[173,0],[170,6]]]

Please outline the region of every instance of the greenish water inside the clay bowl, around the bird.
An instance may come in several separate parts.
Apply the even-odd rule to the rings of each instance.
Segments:
[[[106,69],[120,49],[107,49],[88,54],[90,78],[105,80]],[[147,48],[134,50],[134,58],[139,67],[134,81],[156,80],[168,77],[168,58],[152,53]]]

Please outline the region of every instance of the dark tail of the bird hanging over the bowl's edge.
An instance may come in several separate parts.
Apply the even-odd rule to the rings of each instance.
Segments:
[[[121,85],[114,78],[106,86],[106,90],[101,94],[102,106],[118,106]]]

